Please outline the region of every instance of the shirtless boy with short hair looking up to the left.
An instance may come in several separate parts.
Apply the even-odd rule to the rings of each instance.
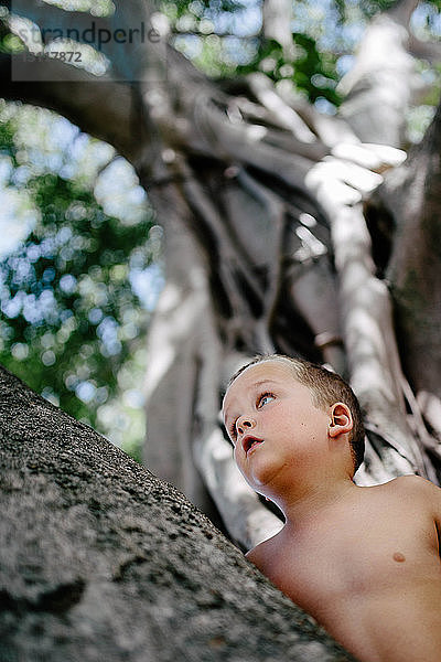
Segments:
[[[440,662],[441,490],[354,483],[358,403],[320,366],[256,360],[223,410],[241,473],[286,519],[247,557],[362,662]]]

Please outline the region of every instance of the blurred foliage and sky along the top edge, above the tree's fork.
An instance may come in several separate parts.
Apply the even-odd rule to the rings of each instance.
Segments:
[[[207,75],[223,78],[262,71],[276,83],[291,81],[311,103],[324,99],[331,106],[322,107],[333,111],[341,103],[336,84],[351,66],[362,26],[395,3],[298,0],[290,58],[276,41],[262,39],[260,7],[252,1],[163,0],[161,11],[171,23],[173,45]],[[420,38],[437,38],[439,11],[439,0],[421,2]]]

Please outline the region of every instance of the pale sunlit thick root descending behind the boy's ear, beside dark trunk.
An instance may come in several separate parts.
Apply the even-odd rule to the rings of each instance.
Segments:
[[[347,186],[342,188],[340,177],[338,168],[326,172],[319,164],[306,182],[331,218],[351,383],[369,424],[400,456],[398,461],[388,460],[390,450],[384,456],[390,477],[416,471],[427,476],[421,449],[405,419],[402,373],[387,288],[374,275],[370,241],[359,202],[347,197]]]

